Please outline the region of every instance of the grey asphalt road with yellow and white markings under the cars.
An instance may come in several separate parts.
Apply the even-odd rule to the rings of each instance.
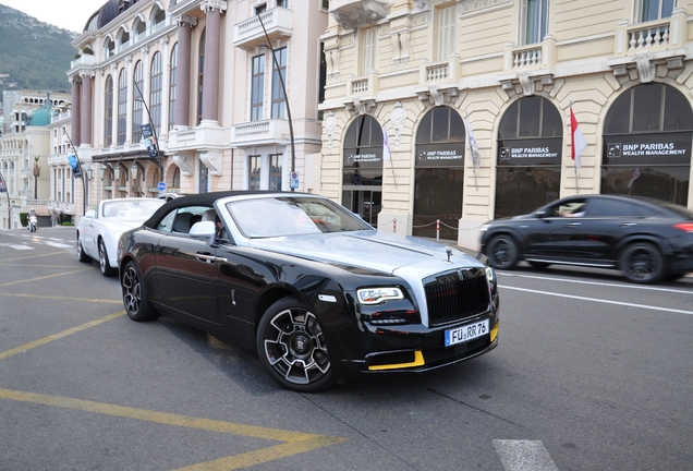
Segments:
[[[283,390],[256,355],[131,322],[74,230],[0,230],[0,470],[691,470],[693,278],[499,274],[499,347]]]

